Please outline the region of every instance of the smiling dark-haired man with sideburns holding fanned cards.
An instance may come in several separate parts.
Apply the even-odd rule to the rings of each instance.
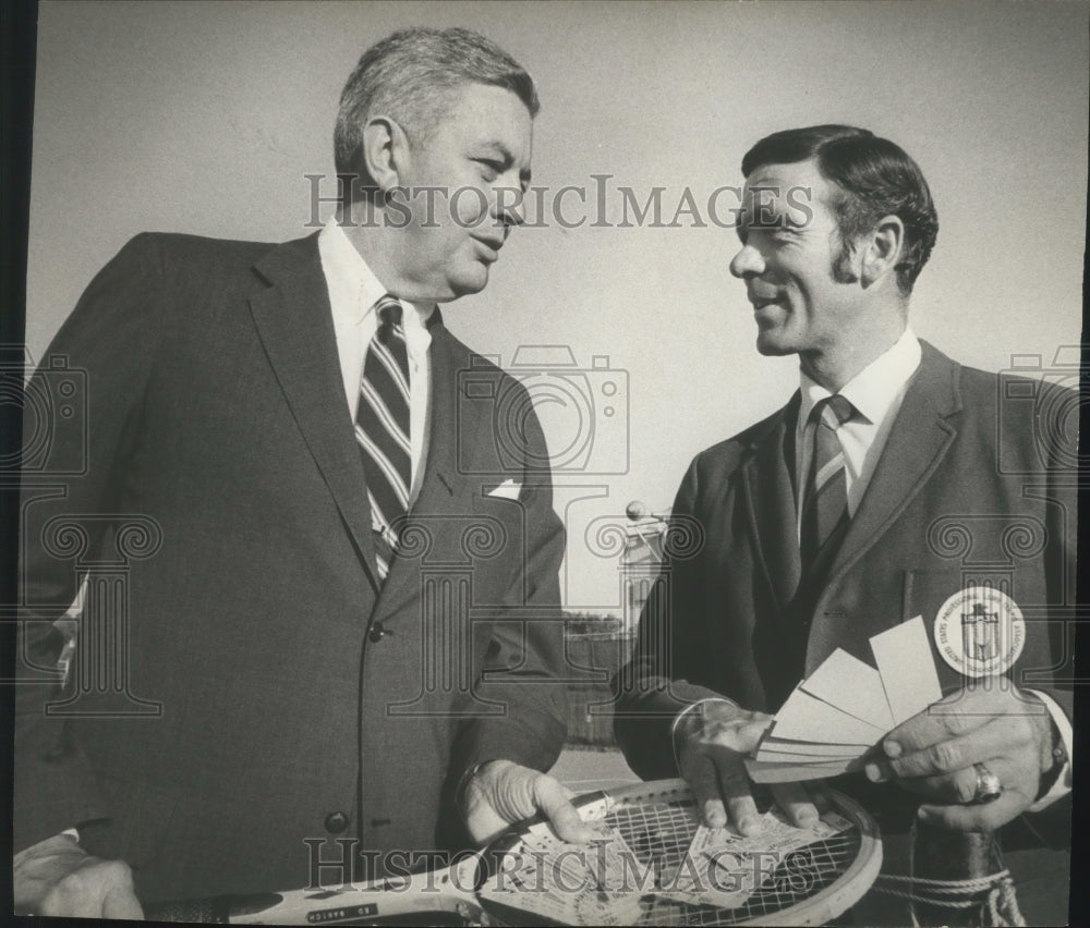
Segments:
[[[742,760],[799,681],[837,648],[871,663],[870,638],[917,615],[937,635],[941,613],[964,621],[994,587],[988,616],[1020,652],[996,655],[981,685],[933,640],[943,703],[888,734],[865,778],[841,781],[884,828],[917,814],[912,794],[922,821],[991,831],[1069,789],[1071,694],[1052,681],[1075,601],[1070,398],[962,367],[912,333],[909,296],[938,223],[897,145],[850,126],[790,130],[753,146],[742,171],[730,270],[758,351],[797,354],[801,384],[690,466],[673,513],[702,545],[667,557],[647,599],[617,681],[618,738],[641,776],[680,771],[707,823],[749,833]],[[1025,415],[1016,395],[1059,419]],[[952,530],[971,555],[943,541]],[[1012,545],[1012,532],[1033,540]],[[773,793],[799,823],[823,802],[820,785]]]

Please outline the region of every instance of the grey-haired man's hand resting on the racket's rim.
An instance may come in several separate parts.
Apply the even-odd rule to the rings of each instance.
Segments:
[[[537,813],[545,814],[561,841],[583,844],[598,835],[579,817],[572,795],[547,773],[510,760],[491,760],[465,784],[461,810],[470,837],[481,845]]]

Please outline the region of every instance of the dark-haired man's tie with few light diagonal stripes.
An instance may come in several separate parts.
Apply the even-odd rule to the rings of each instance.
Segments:
[[[819,402],[810,414],[818,425],[799,536],[803,573],[819,562],[827,564],[848,524],[848,483],[836,430],[855,413],[851,402],[837,394]]]

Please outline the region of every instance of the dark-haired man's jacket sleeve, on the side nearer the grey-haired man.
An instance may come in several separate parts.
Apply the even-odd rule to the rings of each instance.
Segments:
[[[674,723],[703,699],[722,698],[686,679],[705,646],[698,624],[702,532],[698,515],[699,456],[678,489],[663,567],[640,615],[632,658],[614,677],[614,732],[629,766],[644,780],[677,777]]]

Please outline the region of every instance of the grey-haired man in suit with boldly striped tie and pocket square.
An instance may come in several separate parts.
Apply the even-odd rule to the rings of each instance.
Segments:
[[[482,36],[397,33],[344,89],[337,168],[364,181],[319,233],[138,235],[57,335],[89,444],[83,474],[27,484],[24,669],[57,663],[86,565],[130,524],[146,545],[123,614],[87,596],[66,689],[20,692],[20,909],[374,879],[538,810],[585,838],[540,772],[566,718],[544,437],[459,403],[470,371],[521,388],[436,306],[482,290],[521,221],[536,110]]]

